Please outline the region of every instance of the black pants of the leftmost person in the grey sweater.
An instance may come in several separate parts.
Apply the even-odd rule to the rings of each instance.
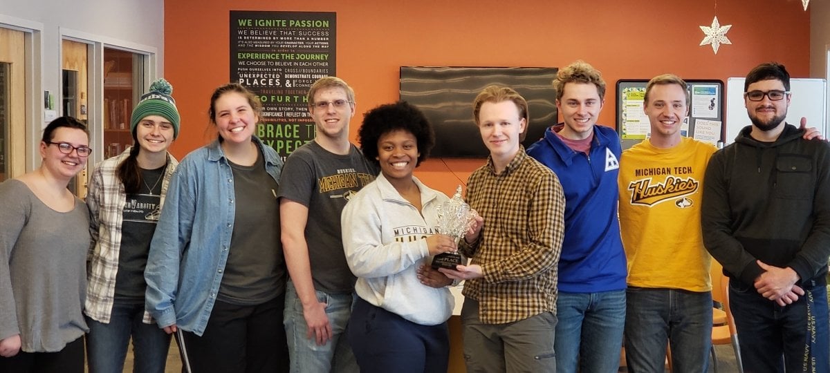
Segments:
[[[84,337],[69,342],[57,352],[17,352],[0,356],[3,373],[84,373]]]

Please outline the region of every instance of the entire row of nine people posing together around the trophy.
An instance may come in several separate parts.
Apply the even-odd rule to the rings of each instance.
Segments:
[[[465,280],[467,371],[617,371],[624,339],[630,371],[662,371],[669,346],[675,371],[701,372],[709,253],[730,276],[746,371],[830,371],[830,145],[784,123],[784,66],[749,73],[753,125],[718,153],[681,136],[676,75],[648,83],[651,134],[625,152],[597,125],[598,70],[574,62],[554,88],[564,122],[526,152],[525,99],[476,97],[490,156],[458,242],[438,230],[447,196],[413,175],[431,124],[383,104],[358,148],[354,90],[336,77],[311,86],[316,136],[285,164],[238,84],[212,94],[217,139],[178,163],[158,80],[134,108],[134,146],[95,167],[85,202],[66,186],[88,132],[56,119],[41,167],[0,184],[0,371],[82,372],[85,353],[90,372],[122,371],[130,338],[135,371],[164,371],[174,334],[185,371],[443,372],[447,287]],[[456,251],[470,264],[432,268]]]

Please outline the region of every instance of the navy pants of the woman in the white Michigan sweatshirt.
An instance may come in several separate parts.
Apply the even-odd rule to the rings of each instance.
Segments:
[[[447,371],[447,322],[417,324],[358,298],[349,325],[349,342],[361,373]]]

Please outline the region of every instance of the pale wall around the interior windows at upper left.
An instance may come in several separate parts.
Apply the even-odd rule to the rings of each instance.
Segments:
[[[32,34],[35,50],[32,71],[27,73],[33,77],[27,84],[31,91],[27,92],[27,124],[33,124],[27,128],[27,170],[40,163],[36,148],[43,123],[43,91],[61,102],[62,37],[153,52],[149,75],[164,76],[164,0],[0,0],[3,26],[39,29]],[[90,70],[91,76],[94,73]],[[90,99],[95,90],[100,88],[90,87]]]

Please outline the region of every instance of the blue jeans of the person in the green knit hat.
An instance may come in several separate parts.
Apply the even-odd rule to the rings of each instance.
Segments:
[[[115,302],[110,312],[110,323],[97,322],[86,317],[90,327],[86,335],[86,353],[90,373],[124,371],[129,337],[133,337],[133,371],[164,373],[170,336],[156,324],[141,322],[144,303]]]

